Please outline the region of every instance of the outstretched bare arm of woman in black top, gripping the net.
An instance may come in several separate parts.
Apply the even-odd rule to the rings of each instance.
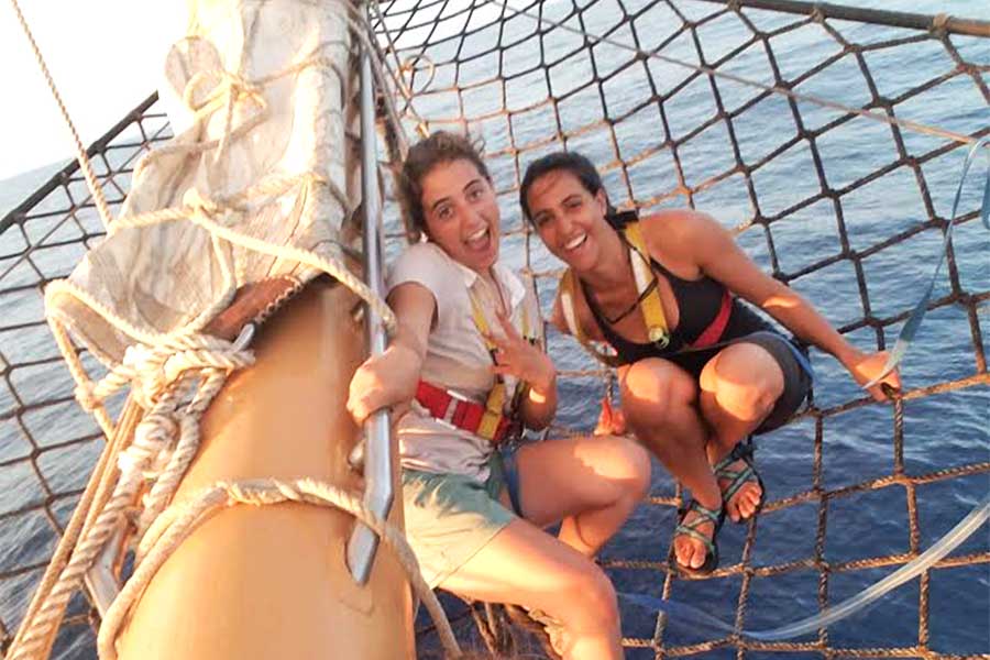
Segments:
[[[760,307],[801,339],[834,355],[860,385],[881,373],[886,353],[867,354],[850,344],[798,292],[757,267],[711,217],[694,211],[682,213],[682,221],[673,223],[674,240],[685,246],[703,273]],[[901,385],[897,373],[883,382]],[[871,394],[886,398],[879,387],[871,388]]]

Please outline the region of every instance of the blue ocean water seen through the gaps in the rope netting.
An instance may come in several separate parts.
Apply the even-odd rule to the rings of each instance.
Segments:
[[[562,3],[548,3],[548,12]],[[603,11],[588,21],[588,31],[604,33],[615,19],[602,3]],[[631,12],[636,2],[625,2]],[[875,1],[873,7],[889,8],[888,3]],[[952,11],[957,15],[990,19],[986,2],[966,0],[953,2],[950,8],[943,2],[911,3],[919,12],[936,13]],[[631,8],[631,9],[630,9]],[[702,10],[698,10],[702,11]],[[771,16],[766,16],[772,21]],[[660,29],[658,28],[658,31]],[[857,29],[847,34],[862,41],[881,41],[893,31]],[[704,29],[704,43],[713,50],[705,56],[717,58],[736,44],[732,25],[712,24]],[[659,37],[658,37],[659,38]],[[815,46],[804,34],[784,35],[776,42],[778,61],[784,77],[799,75],[814,63],[827,56],[827,48]],[[960,40],[960,50],[967,56],[983,65],[990,65],[990,47],[986,40]],[[565,53],[569,43],[550,44],[548,48],[560,47]],[[683,48],[678,51],[678,48]],[[442,61],[446,46],[437,48],[437,58]],[[672,52],[689,56],[690,44],[673,44]],[[477,46],[484,51],[483,45]],[[628,54],[616,50],[608,55],[608,48],[596,63],[606,72],[617,67]],[[987,51],[986,53],[983,51]],[[548,53],[550,58],[552,53]],[[615,127],[615,142],[604,138],[598,130],[581,132],[582,127],[594,122],[604,110],[610,117],[624,117],[636,107],[636,100],[649,95],[650,81],[630,70],[610,78],[597,90],[586,92],[584,76],[588,72],[581,63],[573,66],[564,63],[551,72],[549,79],[525,75],[530,66],[532,53],[516,51],[506,57],[506,75],[509,82],[499,96],[488,88],[465,94],[462,99],[438,94],[436,98],[424,98],[419,110],[436,118],[442,125],[447,118],[457,119],[463,113],[474,134],[484,138],[486,148],[497,154],[491,161],[493,176],[503,191],[499,202],[503,223],[509,231],[504,238],[503,255],[507,263],[517,267],[528,265],[538,273],[553,272],[560,264],[543,250],[537,240],[531,242],[519,233],[521,221],[513,188],[519,170],[529,160],[556,148],[557,144],[541,145],[549,131],[556,128],[540,108],[527,112],[534,99],[546,96],[548,87],[556,95],[563,96],[559,118],[564,131],[578,133],[569,141],[569,146],[580,148],[605,166],[606,184],[615,204],[638,204],[645,208],[683,206],[689,200],[678,194],[676,165],[663,148],[653,148],[668,136],[678,140],[690,134],[698,124],[698,117],[712,112],[711,94],[700,82],[689,82],[668,103],[668,128],[661,130],[662,118],[649,114],[651,109],[641,109],[632,117],[619,121]],[[904,90],[926,79],[931,72],[946,70],[950,63],[944,51],[937,48],[878,50],[867,53],[867,61],[876,77],[881,94],[897,97]],[[474,66],[480,70],[487,64],[479,57]],[[680,67],[669,63],[650,63],[653,81],[663,89],[672,90],[686,78]],[[861,105],[868,89],[861,82],[853,63],[842,59],[834,67],[849,68],[848,75],[813,76],[799,86],[798,91],[827,98],[846,105]],[[832,67],[829,67],[832,68]],[[758,57],[739,57],[733,64],[733,73],[750,79],[766,80],[766,63]],[[835,70],[835,69],[833,69]],[[520,74],[518,77],[513,77]],[[600,75],[605,75],[602,70]],[[466,76],[466,74],[464,74]],[[444,72],[438,69],[436,88],[443,87]],[[986,73],[983,79],[987,79]],[[967,132],[990,124],[990,109],[986,100],[971,96],[971,86],[963,89],[952,84],[936,86],[915,103],[909,103],[899,117],[923,123],[931,123],[950,130]],[[741,107],[751,90],[726,84],[723,101],[727,108]],[[462,105],[461,105],[462,103]],[[834,110],[814,105],[799,103],[805,127],[814,129],[832,121]],[[507,107],[516,110],[513,120],[494,116],[495,110]],[[548,123],[550,122],[550,123]],[[734,122],[736,140],[746,162],[759,162],[767,154],[780,148],[794,134],[794,120],[785,101],[770,97],[757,107],[744,112]],[[111,122],[108,122],[108,124]],[[746,183],[738,175],[726,176],[714,183],[710,179],[733,167],[732,154],[726,152],[727,135],[718,124],[684,142],[681,148],[680,167],[685,185],[703,189],[693,196],[696,208],[715,216],[727,227],[745,226],[754,217],[752,197],[746,193]],[[908,132],[904,135],[909,151],[924,153],[941,144],[928,135]],[[536,145],[536,146],[534,146]],[[514,148],[520,147],[518,157]],[[882,124],[865,120],[849,122],[839,130],[828,132],[820,141],[823,157],[823,173],[828,185],[842,189],[878,164],[893,157],[895,145],[890,139],[890,130]],[[623,160],[631,162],[623,170],[614,166],[616,152]],[[963,150],[952,151],[933,158],[923,167],[926,186],[931,191],[936,212],[947,217],[955,186],[961,168]],[[61,165],[59,165],[61,166]],[[11,208],[26,197],[38,184],[57,169],[42,168],[0,182],[0,217],[6,208]],[[772,270],[773,262],[768,250],[767,237],[772,239],[781,274],[801,273],[823,258],[837,255],[844,249],[836,230],[835,211],[827,201],[816,202],[796,212],[785,212],[798,200],[813,195],[818,182],[814,156],[802,145],[783,150],[766,166],[754,173],[752,187],[765,217],[781,215],[780,221],[766,231],[754,227],[743,231],[738,241],[762,267]],[[717,176],[716,176],[717,178]],[[964,195],[963,208],[976,208],[978,189],[971,183]],[[843,195],[842,206],[847,227],[849,248],[866,250],[924,220],[924,208],[920,201],[919,186],[914,176],[904,168]],[[864,271],[868,282],[868,297],[871,312],[884,318],[903,311],[919,297],[934,268],[941,246],[941,234],[926,231],[898,244],[876,252],[864,260]],[[394,243],[391,250],[397,250]],[[968,292],[990,290],[990,235],[978,222],[968,222],[956,230],[954,242],[955,258],[959,264],[958,277]],[[936,288],[936,297],[949,290],[948,275],[943,271]],[[9,283],[0,282],[0,287]],[[540,297],[544,307],[549,306],[553,285],[548,279],[540,280]],[[836,326],[842,327],[864,314],[865,299],[858,292],[856,273],[850,262],[838,260],[834,265],[816,270],[791,282],[798,290],[809,297]],[[4,297],[7,298],[7,297]],[[32,302],[33,304],[33,302]],[[25,306],[28,302],[25,302]],[[28,314],[24,308],[9,298],[0,301],[0,309],[14,315]],[[32,310],[31,315],[34,314]],[[31,316],[29,315],[29,316]],[[25,317],[26,318],[26,317]],[[32,317],[33,318],[33,317]],[[986,307],[977,316],[982,329],[982,349],[988,348]],[[13,322],[8,319],[8,322]],[[902,377],[909,388],[925,387],[946,381],[965,378],[976,373],[974,338],[970,319],[963,307],[939,308],[932,314],[917,337],[911,355],[902,367]],[[886,328],[888,345],[892,343],[898,324]],[[45,341],[44,329],[24,332],[0,342],[0,348],[10,353],[34,354]],[[877,346],[877,334],[865,328],[848,333],[850,340],[862,349]],[[16,343],[21,341],[22,343]],[[13,342],[13,343],[11,343]],[[592,369],[590,359],[568,338],[551,332],[549,345],[558,366],[572,372]],[[817,375],[814,402],[818,408],[831,409],[860,397],[857,387],[832,358],[812,351],[812,360]],[[22,371],[12,380],[19,391],[26,393],[30,400],[51,394],[53,378],[61,378],[57,387],[65,384],[64,374],[58,370]],[[70,394],[70,392],[66,392]],[[569,377],[561,382],[561,406],[558,422],[568,429],[587,430],[594,425],[595,403],[602,395],[602,381],[596,376]],[[67,404],[72,405],[72,404]],[[922,475],[953,468],[990,460],[988,443],[988,408],[990,388],[986,386],[956,389],[912,399],[904,405],[904,468],[908,475]],[[593,410],[593,413],[590,413]],[[23,422],[32,430],[40,430],[45,443],[58,442],[59,433],[76,438],[91,433],[91,425],[80,422],[78,428],[54,429],[45,420],[29,418]],[[821,487],[834,491],[889,476],[893,471],[893,449],[891,429],[893,415],[889,406],[869,405],[854,407],[845,413],[827,416],[822,422],[822,481]],[[0,427],[0,457],[7,459],[19,455],[13,447],[16,442],[7,427]],[[799,495],[812,487],[815,455],[813,440],[817,429],[811,418],[799,419],[788,427],[759,439],[759,466],[767,483],[771,502]],[[55,452],[48,454],[43,465],[45,475],[59,491],[79,487],[85,482],[80,464],[90,464],[96,442],[79,452]],[[0,469],[0,484],[4,486],[0,496],[0,512],[13,512],[20,507],[44,498],[36,483],[26,470]],[[917,515],[921,522],[921,547],[926,548],[956,524],[990,487],[987,474],[977,474],[945,481],[934,481],[917,486]],[[674,484],[669,475],[654,464],[654,480],[651,495],[670,497]],[[72,502],[58,506],[63,520]],[[888,487],[866,491],[849,496],[834,498],[827,507],[824,546],[821,548],[826,562],[838,564],[865,558],[906,552],[908,508],[903,488]],[[36,518],[36,519],[35,519]],[[11,518],[13,519],[13,518]],[[756,531],[756,542],[749,564],[755,568],[777,566],[791,561],[802,561],[816,552],[816,535],[821,512],[816,502],[789,506],[760,517]],[[41,515],[31,519],[16,518],[16,524],[8,524],[0,518],[0,570],[21,566],[41,561],[51,552],[52,534]],[[622,535],[605,548],[602,559],[609,575],[620,592],[662,595],[663,574],[656,570],[642,570],[636,562],[662,562],[668,556],[669,542],[675,525],[675,512],[669,506],[644,504],[632,516]],[[743,558],[747,529],[726,525],[719,535],[719,550],[723,565],[732,565]],[[964,556],[987,552],[988,534],[981,530],[954,554]],[[837,603],[866,585],[881,579],[897,566],[883,569],[836,572],[829,578],[828,601]],[[28,597],[26,587],[36,573],[23,579],[7,580],[0,584],[0,617],[7,625],[15,625]],[[987,620],[990,619],[990,570],[988,564],[943,568],[931,573],[928,608],[931,615],[931,649],[957,654],[990,652]],[[740,597],[741,578],[733,575],[700,582],[676,581],[669,596],[679,602],[690,603],[707,614],[733,622]],[[789,571],[784,575],[757,575],[749,584],[745,626],[762,629],[782,625],[818,610],[820,573],[817,570]],[[867,613],[846,619],[829,628],[831,648],[862,648],[873,646],[904,646],[917,642],[917,610],[921,598],[919,581],[909,583],[888,595],[879,605]],[[77,603],[78,605],[78,603]],[[650,638],[656,627],[656,612],[635,603],[624,604],[623,631],[627,637]],[[882,635],[878,634],[882,631]],[[666,645],[686,645],[718,638],[717,635],[678,626],[672,620],[664,634]],[[807,638],[815,641],[816,637]],[[73,646],[66,641],[64,657],[87,657],[89,651],[84,642]],[[652,649],[631,649],[630,658],[652,658]],[[700,658],[736,657],[735,650],[722,649],[700,653]],[[747,658],[791,657],[781,653],[747,652]],[[798,656],[794,656],[798,657]],[[801,654],[804,658],[821,657],[817,653]]]

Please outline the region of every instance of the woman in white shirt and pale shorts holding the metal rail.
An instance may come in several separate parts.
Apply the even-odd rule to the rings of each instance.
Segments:
[[[550,615],[564,658],[620,658],[615,591],[593,558],[646,494],[649,458],[610,436],[498,451],[517,420],[550,424],[557,372],[531,340],[531,287],[497,263],[491,177],[466,139],[435,133],[409,151],[399,197],[428,241],[392,268],[398,331],[354,374],[348,408],[359,424],[405,408],[406,534],[424,576]],[[542,531],[554,522],[557,537]]]

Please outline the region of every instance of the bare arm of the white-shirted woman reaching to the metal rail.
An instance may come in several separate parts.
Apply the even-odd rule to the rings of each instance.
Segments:
[[[396,333],[385,352],[365,360],[351,378],[348,410],[359,425],[375,410],[410,400],[426,358],[437,310],[433,294],[410,282],[393,289],[388,304],[398,319]]]

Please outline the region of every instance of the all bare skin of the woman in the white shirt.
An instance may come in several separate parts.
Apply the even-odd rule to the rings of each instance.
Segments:
[[[421,186],[429,240],[496,287],[492,266],[498,257],[499,218],[491,182],[470,161],[459,160],[437,165]],[[394,288],[388,302],[398,331],[351,381],[348,409],[359,424],[380,408],[407,405],[436,322],[433,295],[419,284]],[[520,416],[526,426],[543,428],[557,409],[557,372],[505,311],[490,329],[498,349],[493,372],[529,384]],[[465,598],[549,614],[565,630],[568,660],[622,658],[615,590],[592,558],[646,495],[648,454],[635,442],[606,436],[529,443],[516,461],[525,519],[506,526],[441,586]],[[501,501],[508,504],[507,492]],[[542,531],[556,522],[557,538]]]

